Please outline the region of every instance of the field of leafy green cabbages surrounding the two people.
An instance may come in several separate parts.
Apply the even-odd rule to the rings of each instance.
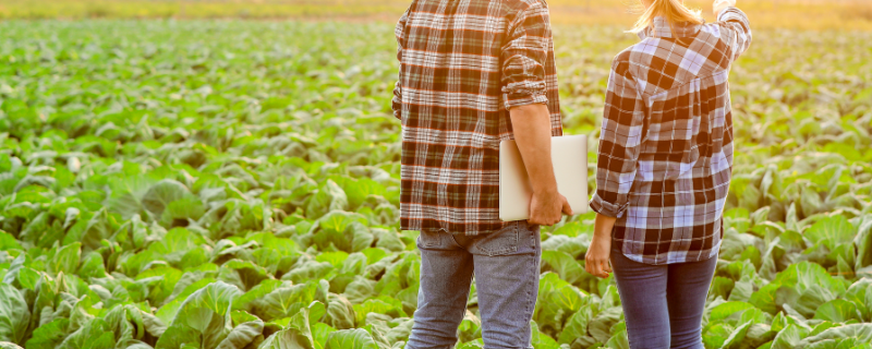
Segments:
[[[0,33],[0,348],[402,348],[421,262],[391,24]],[[754,34],[705,347],[872,349],[872,33]],[[595,152],[633,37],[555,36],[566,131]],[[614,280],[584,273],[592,219],[543,230],[537,349],[628,348]],[[476,303],[458,348],[482,348]]]

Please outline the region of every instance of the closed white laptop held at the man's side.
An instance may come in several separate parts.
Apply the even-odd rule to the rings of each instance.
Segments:
[[[552,163],[557,191],[566,196],[572,213],[588,212],[588,136],[552,137]],[[499,219],[530,218],[533,189],[514,141],[499,143]]]

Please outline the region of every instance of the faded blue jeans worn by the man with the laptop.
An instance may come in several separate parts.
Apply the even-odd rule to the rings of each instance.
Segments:
[[[526,349],[538,293],[538,226],[512,222],[489,234],[422,231],[421,288],[407,349],[450,349],[475,273],[482,339],[487,349]]]

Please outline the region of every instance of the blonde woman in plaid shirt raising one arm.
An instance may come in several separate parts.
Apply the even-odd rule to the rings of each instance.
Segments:
[[[735,0],[711,24],[681,0],[641,1],[642,41],[611,63],[585,269],[614,269],[631,348],[703,348],[732,168],[727,76],[751,29]]]

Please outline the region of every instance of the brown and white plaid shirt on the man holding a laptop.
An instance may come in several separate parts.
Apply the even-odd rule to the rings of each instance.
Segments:
[[[414,0],[397,23],[402,121],[400,226],[499,230],[499,142],[509,108],[547,104],[561,135],[544,0]]]

